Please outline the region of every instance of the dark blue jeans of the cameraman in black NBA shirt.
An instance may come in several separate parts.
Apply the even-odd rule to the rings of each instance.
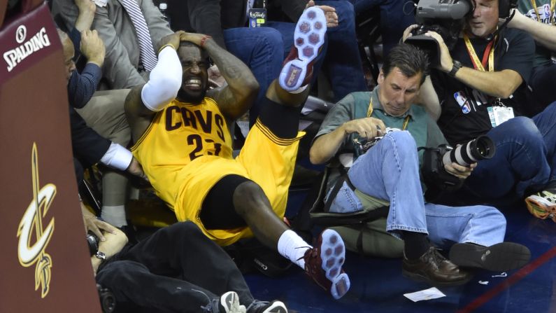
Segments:
[[[541,190],[556,179],[556,103],[534,118],[517,117],[492,128],[487,135],[496,143],[490,160],[478,162],[466,179],[463,192],[493,202],[526,190]]]

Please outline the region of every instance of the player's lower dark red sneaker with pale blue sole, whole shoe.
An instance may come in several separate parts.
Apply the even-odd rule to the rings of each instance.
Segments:
[[[345,244],[335,230],[321,232],[315,247],[305,252],[305,271],[334,299],[342,298],[350,289],[350,278],[342,270]]]

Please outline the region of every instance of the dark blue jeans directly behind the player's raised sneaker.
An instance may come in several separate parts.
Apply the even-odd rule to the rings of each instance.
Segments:
[[[320,53],[324,60],[315,62],[313,78],[322,66],[332,85],[334,102],[337,102],[350,92],[367,90],[355,36],[355,13],[352,4],[345,0],[317,1],[317,5],[336,8],[338,26],[327,29],[327,43],[322,46]],[[286,57],[294,43],[295,24],[267,22],[266,25],[278,29],[282,34]]]

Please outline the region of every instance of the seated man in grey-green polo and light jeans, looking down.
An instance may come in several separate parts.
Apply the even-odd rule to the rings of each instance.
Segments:
[[[327,193],[334,197],[330,211],[348,213],[389,205],[387,218],[373,222],[373,238],[368,239],[375,241],[378,249],[370,254],[403,254],[404,275],[429,284],[464,284],[470,274],[457,265],[497,271],[521,267],[530,258],[529,250],[504,242],[506,220],[497,209],[482,205],[446,207],[424,201],[420,176],[423,153],[417,147],[446,144],[425,109],[413,105],[420,101],[427,68],[424,52],[401,43],[385,58],[373,92],[353,92],[329,111],[311,146],[314,164],[345,160],[343,154],[356,152],[357,142],[383,136],[368,151],[356,153],[359,156],[336,195]],[[387,127],[398,131],[385,133]],[[476,163],[443,164],[446,175],[456,181],[466,179],[474,167]],[[342,178],[336,174],[329,180],[328,190],[338,179]],[[449,248],[453,244],[450,260],[429,244],[427,235],[437,246]],[[404,241],[403,247],[399,239]]]

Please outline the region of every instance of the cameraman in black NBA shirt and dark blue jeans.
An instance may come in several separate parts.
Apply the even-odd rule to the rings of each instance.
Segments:
[[[434,87],[422,87],[429,95],[422,103],[429,111],[441,111],[438,125],[450,144],[486,134],[496,146],[494,157],[479,162],[443,203],[500,203],[529,196],[525,201],[534,216],[556,221],[556,104],[533,118],[513,118],[519,114],[513,109],[527,105],[513,95],[526,88],[535,47],[520,29],[499,27],[499,18],[511,18],[513,6],[513,0],[474,1],[452,50],[439,34],[425,34],[438,42],[441,62],[431,73]],[[415,27],[406,29],[404,40]]]

